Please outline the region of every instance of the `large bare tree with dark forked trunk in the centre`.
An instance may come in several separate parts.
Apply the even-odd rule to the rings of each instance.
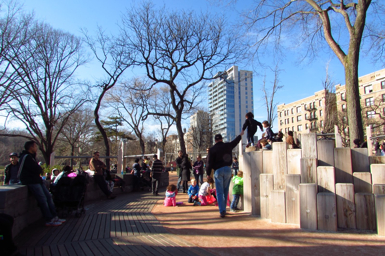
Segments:
[[[206,93],[204,81],[211,80],[217,68],[243,57],[238,34],[227,24],[220,15],[156,9],[152,3],[133,7],[122,17],[122,33],[136,53],[131,55],[132,61],[145,68],[153,81],[150,88],[158,84],[169,87],[175,115],[149,115],[175,121],[182,151],[186,151],[182,114],[196,108]]]

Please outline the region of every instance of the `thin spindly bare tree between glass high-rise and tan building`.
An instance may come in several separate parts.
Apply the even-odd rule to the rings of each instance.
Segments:
[[[274,72],[274,81],[271,82],[271,86],[266,86],[267,81],[265,74],[261,91],[263,91],[262,99],[264,101],[263,104],[266,107],[267,111],[267,121],[269,122],[271,127],[273,127],[273,122],[277,117],[276,108],[278,105],[278,102],[274,101],[274,96],[278,90],[283,88],[283,85],[279,85],[279,75],[282,70],[279,69],[278,63],[275,65],[274,70],[272,68],[270,68],[270,70]]]

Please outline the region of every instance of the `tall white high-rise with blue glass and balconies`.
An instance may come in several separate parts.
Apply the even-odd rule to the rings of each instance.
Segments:
[[[225,72],[218,72],[208,90],[213,135],[220,133],[223,141],[234,140],[242,130],[246,113],[254,112],[253,72],[232,66]],[[246,136],[243,143],[246,143]]]

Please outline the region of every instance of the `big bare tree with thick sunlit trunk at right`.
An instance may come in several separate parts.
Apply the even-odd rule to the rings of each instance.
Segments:
[[[314,57],[326,42],[345,68],[350,137],[363,140],[358,59],[362,40],[377,34],[374,28],[382,28],[383,15],[376,15],[379,7],[383,6],[371,0],[256,0],[253,9],[244,14],[243,24],[249,34],[257,33],[254,47],[258,54],[272,46],[281,54],[286,44],[304,47],[304,58]],[[370,26],[370,21],[377,25]],[[293,42],[287,42],[288,38]]]

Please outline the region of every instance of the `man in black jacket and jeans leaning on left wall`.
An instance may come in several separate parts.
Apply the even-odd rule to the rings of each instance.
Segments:
[[[37,144],[35,141],[27,141],[20,155],[20,169],[18,177],[22,185],[27,185],[28,190],[35,196],[44,218],[45,226],[59,226],[65,219],[59,219],[56,214],[52,196],[43,184],[42,167],[36,161]]]

